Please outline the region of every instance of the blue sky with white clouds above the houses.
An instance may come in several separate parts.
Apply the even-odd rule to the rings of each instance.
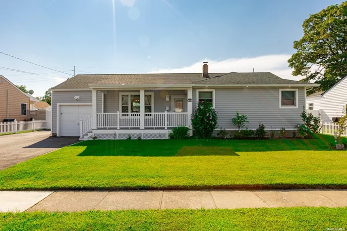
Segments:
[[[73,65],[76,74],[200,72],[208,60],[210,72],[255,68],[298,80],[287,60],[302,22],[341,2],[3,0],[0,51],[70,74]],[[0,67],[43,74],[0,69],[34,95],[70,77],[3,54]]]

